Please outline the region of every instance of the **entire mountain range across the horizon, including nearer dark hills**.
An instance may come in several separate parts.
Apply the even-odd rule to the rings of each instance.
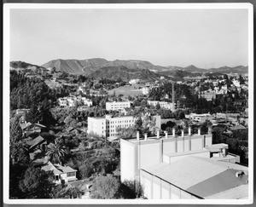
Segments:
[[[67,72],[70,74],[90,76],[93,78],[141,78],[144,80],[165,78],[183,78],[185,76],[196,76],[201,73],[240,73],[248,72],[248,66],[222,66],[218,68],[199,68],[196,66],[155,66],[145,60],[105,60],[93,58],[86,60],[50,60],[42,66],[35,66],[22,61],[10,62],[12,69],[34,68],[34,67],[55,67],[56,71]]]

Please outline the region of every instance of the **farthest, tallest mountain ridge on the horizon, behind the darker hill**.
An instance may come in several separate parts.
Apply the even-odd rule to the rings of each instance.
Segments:
[[[155,66],[154,64],[145,60],[105,60],[101,58],[93,58],[86,60],[51,60],[43,65],[45,68],[55,67],[57,71],[90,75],[102,67],[108,66],[125,66],[128,69],[149,70],[151,72],[177,72],[185,71],[190,72],[188,75],[193,76],[191,73],[207,73],[207,72],[221,72],[221,73],[247,73],[247,66],[229,67],[223,66],[218,68],[199,68],[193,65],[180,67],[180,66]],[[164,74],[164,73],[162,73]],[[166,74],[167,75],[167,74]]]

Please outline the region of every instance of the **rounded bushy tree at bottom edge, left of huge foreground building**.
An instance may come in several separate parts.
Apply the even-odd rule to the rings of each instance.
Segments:
[[[119,197],[119,181],[113,175],[98,176],[91,187],[91,198],[111,199]]]

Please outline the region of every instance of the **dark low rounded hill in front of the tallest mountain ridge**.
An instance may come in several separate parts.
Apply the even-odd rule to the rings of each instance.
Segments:
[[[107,66],[102,67],[90,74],[91,78],[108,78],[118,79],[121,78],[124,81],[130,81],[131,79],[141,79],[144,81],[152,81],[160,79],[161,75],[155,72],[151,72],[147,69],[129,69],[126,66]],[[167,77],[166,77],[167,78]]]

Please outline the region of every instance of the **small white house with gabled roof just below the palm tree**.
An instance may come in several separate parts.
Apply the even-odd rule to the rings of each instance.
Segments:
[[[77,181],[76,172],[69,166],[62,166],[61,164],[52,164],[48,162],[42,167],[45,172],[52,171],[54,173],[54,182],[56,184],[61,184],[61,181]]]

